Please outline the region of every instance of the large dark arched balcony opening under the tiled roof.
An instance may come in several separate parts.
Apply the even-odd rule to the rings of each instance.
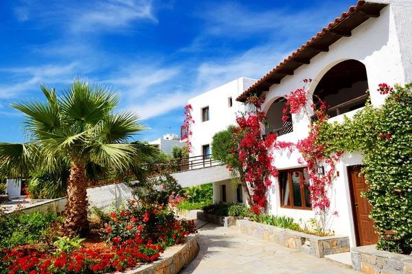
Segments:
[[[365,65],[346,60],[323,75],[314,90],[313,101],[315,105],[319,105],[319,99],[325,101],[329,116],[334,117],[364,107],[369,97],[367,89]]]

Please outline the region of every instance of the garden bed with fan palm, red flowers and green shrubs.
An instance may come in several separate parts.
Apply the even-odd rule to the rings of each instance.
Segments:
[[[43,178],[67,205],[63,214],[0,212],[0,273],[126,271],[185,242],[194,222],[173,211],[185,191],[168,172],[142,167],[159,151],[130,141],[144,127],[133,112],[114,112],[118,94],[84,79],[61,95],[41,88],[46,101],[12,104],[25,114],[27,142],[0,143],[0,173]],[[100,180],[126,182],[135,199],[111,212],[90,208],[87,187]]]

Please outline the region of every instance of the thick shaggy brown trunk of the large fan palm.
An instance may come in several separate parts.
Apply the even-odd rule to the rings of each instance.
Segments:
[[[69,236],[89,234],[86,190],[87,178],[84,173],[84,163],[75,158],[71,161],[70,176],[67,180],[64,232]]]

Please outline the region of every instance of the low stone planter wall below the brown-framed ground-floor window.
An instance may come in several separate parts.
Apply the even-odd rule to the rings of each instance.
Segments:
[[[241,233],[258,237],[261,240],[276,242],[284,247],[304,251],[319,258],[350,251],[349,238],[345,236],[319,237],[273,225],[256,223],[247,218],[238,220],[236,224]]]

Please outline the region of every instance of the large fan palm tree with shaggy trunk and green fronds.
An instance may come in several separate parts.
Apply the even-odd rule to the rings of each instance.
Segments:
[[[43,85],[41,89],[47,101],[12,104],[25,114],[27,142],[0,143],[0,173],[27,177],[40,172],[60,176],[56,182],[62,184],[64,174],[59,171],[64,172],[62,166],[69,164],[63,230],[67,235],[84,235],[89,233],[86,190],[91,177],[86,170],[110,172],[115,179],[132,172],[139,182],[146,183],[145,170],[139,164],[156,157],[158,150],[139,141],[130,142],[145,128],[137,114],[113,112],[119,94],[110,88],[75,79],[60,96],[54,89]]]

